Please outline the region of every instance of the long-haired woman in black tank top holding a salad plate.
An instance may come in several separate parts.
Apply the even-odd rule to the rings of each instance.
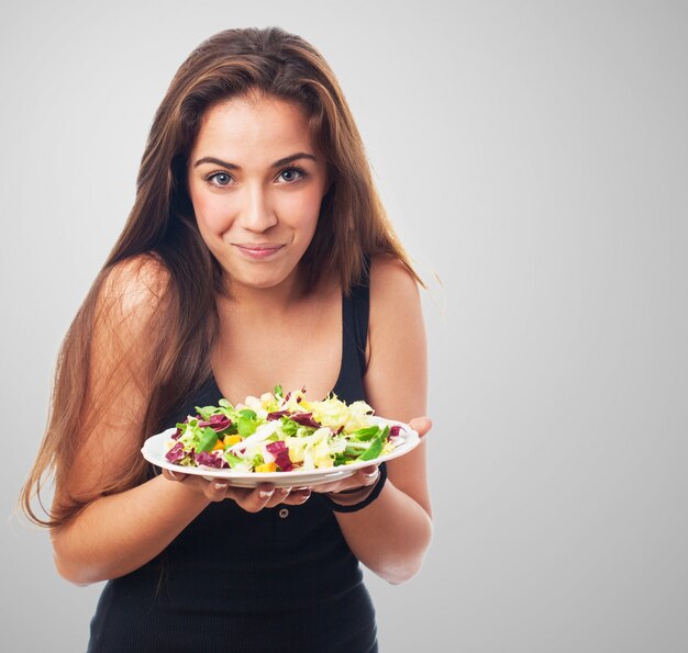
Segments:
[[[59,573],[108,579],[89,651],[376,651],[358,561],[412,576],[431,539],[424,444],[312,488],[157,474],[144,439],[276,384],[425,409],[418,277],[321,55],[230,30],[178,70],[134,207],[73,323],[23,503],[55,474]],[[424,435],[426,418],[413,420]]]

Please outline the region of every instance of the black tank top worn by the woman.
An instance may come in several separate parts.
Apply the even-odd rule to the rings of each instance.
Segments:
[[[333,389],[363,399],[369,295],[343,297]],[[170,424],[217,404],[213,376]],[[109,581],[88,653],[374,653],[375,611],[358,561],[317,494],[252,514],[210,504],[160,555]]]

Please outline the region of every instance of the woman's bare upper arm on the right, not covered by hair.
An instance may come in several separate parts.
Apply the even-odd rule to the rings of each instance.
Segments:
[[[370,266],[369,360],[364,385],[377,415],[400,421],[425,415],[428,354],[418,283],[397,259]],[[430,514],[425,443],[387,463],[395,486]]]

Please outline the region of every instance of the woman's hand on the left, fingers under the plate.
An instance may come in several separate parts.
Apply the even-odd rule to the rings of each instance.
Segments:
[[[169,470],[163,470],[163,476],[169,481],[184,483],[185,487],[202,494],[210,502],[232,499],[247,513],[257,513],[280,504],[300,506],[311,496],[311,491],[303,487],[275,487],[270,483],[260,483],[255,488],[234,487],[225,479],[209,481],[195,474],[180,474]]]

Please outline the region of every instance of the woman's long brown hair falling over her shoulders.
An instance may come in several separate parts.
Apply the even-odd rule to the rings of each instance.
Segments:
[[[187,161],[208,109],[256,91],[300,106],[309,119],[313,143],[328,162],[330,188],[301,261],[309,286],[323,275],[337,275],[348,293],[362,278],[367,258],[382,252],[401,260],[421,282],[386,216],[358,130],[320,53],[278,27],[228,30],[212,36],[181,65],[157,110],[134,206],[63,342],[46,434],[20,497],[34,522],[60,526],[88,503],[88,498],[70,497],[52,510],[43,507],[47,520],[32,507],[46,477],[54,474],[56,484],[62,484],[78,447],[74,434],[85,430],[80,419],[97,302],[115,266],[153,257],[168,277],[156,318],[155,367],[146,376],[149,387],[141,441],[167,427],[165,420],[207,378],[217,329],[215,299],[223,292],[222,271],[198,232],[186,188]],[[92,406],[89,413],[98,415]],[[122,468],[104,493],[122,492],[146,477],[147,463],[141,455]]]

